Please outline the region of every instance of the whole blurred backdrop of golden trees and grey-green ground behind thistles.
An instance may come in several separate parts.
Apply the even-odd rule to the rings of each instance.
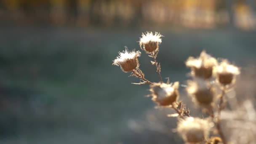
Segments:
[[[256,0],[0,0],[0,143],[181,144],[174,112],[112,61],[160,32],[163,77],[186,84],[184,61],[204,49],[243,67],[238,94],[254,99],[255,10]],[[150,60],[142,53],[140,67],[157,81]]]

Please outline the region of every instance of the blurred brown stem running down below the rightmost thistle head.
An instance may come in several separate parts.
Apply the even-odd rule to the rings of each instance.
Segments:
[[[227,144],[227,141],[225,139],[225,136],[223,134],[223,132],[221,131],[221,124],[220,124],[220,118],[221,118],[221,110],[223,109],[223,97],[225,95],[225,91],[226,91],[226,88],[225,86],[222,88],[222,93],[221,93],[221,96],[220,96],[220,102],[219,102],[219,109],[218,109],[218,115],[217,115],[217,121],[216,121],[216,128],[219,132],[219,136],[221,137],[222,141],[223,141],[223,144]]]

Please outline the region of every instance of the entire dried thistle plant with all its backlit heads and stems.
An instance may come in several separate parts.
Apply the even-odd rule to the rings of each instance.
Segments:
[[[175,110],[175,114],[170,117],[179,117],[177,131],[185,142],[195,144],[205,142],[205,144],[227,144],[225,134],[221,128],[221,110],[226,106],[225,95],[235,84],[236,76],[240,70],[235,65],[229,64],[227,60],[220,63],[216,58],[202,51],[199,57],[189,57],[185,62],[191,69],[191,80],[187,81],[187,93],[192,98],[194,104],[208,113],[209,117],[201,119],[191,117],[189,109],[179,100],[179,82],[164,83],[160,74],[160,63],[157,62],[159,45],[162,43],[162,35],[155,32],[142,33],[139,45],[143,51],[153,59],[151,63],[155,65],[159,82],[151,82],[145,78],[145,74],[139,69],[138,57],[140,51],[119,52],[119,56],[113,64],[120,66],[124,72],[132,72],[131,76],[138,77],[139,83],[149,84],[150,95],[159,107],[166,107]],[[221,90],[221,92],[217,91]],[[216,131],[216,133],[211,133]],[[209,137],[211,136],[211,137]]]

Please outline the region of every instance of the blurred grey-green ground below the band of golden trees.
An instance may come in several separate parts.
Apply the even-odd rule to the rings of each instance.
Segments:
[[[138,80],[112,66],[112,60],[124,46],[139,50],[137,41],[145,31],[1,28],[0,87],[5,99],[11,101],[7,102],[11,108],[2,108],[1,113],[15,115],[15,118],[2,115],[1,125],[11,125],[11,130],[1,143],[156,143],[152,139],[159,139],[163,144],[169,140],[178,143],[179,137],[171,133],[175,120],[162,118],[166,112],[155,110],[150,99],[144,98],[149,93],[147,85],[132,85]],[[157,31],[165,36],[158,56],[162,75],[170,77],[171,81],[179,80],[184,84],[189,72],[184,61],[188,56],[199,55],[203,49],[240,67],[255,65],[256,32],[232,29]],[[142,53],[139,60],[146,77],[156,81],[150,58]],[[17,93],[5,92],[8,90]],[[181,88],[181,93],[183,90]],[[10,100],[11,96],[14,99]],[[145,128],[148,125],[133,123],[150,124],[149,115],[155,115],[156,122],[170,120],[172,127],[164,128],[170,134],[162,136],[159,131],[163,129],[155,131]],[[13,119],[16,121],[10,122]],[[135,132],[134,125],[141,125],[143,130]]]

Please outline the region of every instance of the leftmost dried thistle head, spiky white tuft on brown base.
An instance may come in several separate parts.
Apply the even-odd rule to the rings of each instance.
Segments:
[[[139,67],[138,57],[141,56],[140,51],[125,51],[119,52],[119,56],[113,61],[113,65],[120,66],[123,72],[130,72]]]

